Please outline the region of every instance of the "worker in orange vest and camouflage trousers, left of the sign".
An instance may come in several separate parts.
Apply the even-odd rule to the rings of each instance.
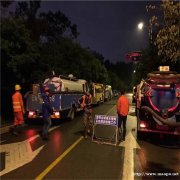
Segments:
[[[81,108],[84,109],[83,124],[84,124],[84,137],[87,139],[87,135],[91,133],[93,126],[92,119],[92,95],[89,92],[85,92],[85,95],[79,100]]]

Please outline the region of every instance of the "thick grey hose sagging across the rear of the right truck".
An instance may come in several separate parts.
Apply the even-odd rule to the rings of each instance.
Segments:
[[[173,126],[173,127],[179,127],[180,126],[180,122],[172,122],[172,121],[168,121],[168,119],[164,119],[161,116],[159,116],[156,112],[154,112],[150,107],[148,106],[142,106],[141,109],[145,109],[147,110],[149,113],[151,113],[155,118],[157,118],[159,121],[161,121],[162,123],[168,125],[168,126]]]

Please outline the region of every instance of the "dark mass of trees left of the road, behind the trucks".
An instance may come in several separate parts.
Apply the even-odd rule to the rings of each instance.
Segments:
[[[8,7],[16,3],[14,12]],[[14,85],[25,94],[54,71],[80,79],[131,89],[132,65],[112,64],[77,43],[80,34],[61,11],[39,12],[40,1],[1,1],[1,116],[12,115]],[[125,75],[126,74],[126,75]],[[127,85],[128,86],[125,86]]]

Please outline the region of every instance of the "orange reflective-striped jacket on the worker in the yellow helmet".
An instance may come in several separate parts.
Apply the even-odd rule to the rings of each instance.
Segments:
[[[22,95],[19,91],[16,91],[12,96],[12,104],[14,112],[24,111]]]

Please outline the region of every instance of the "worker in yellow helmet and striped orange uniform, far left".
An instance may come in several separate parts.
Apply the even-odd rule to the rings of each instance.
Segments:
[[[22,94],[20,93],[21,86],[19,84],[15,85],[15,93],[12,95],[12,104],[14,110],[14,127],[10,129],[14,135],[18,135],[17,129],[19,129],[24,124],[24,105]]]

